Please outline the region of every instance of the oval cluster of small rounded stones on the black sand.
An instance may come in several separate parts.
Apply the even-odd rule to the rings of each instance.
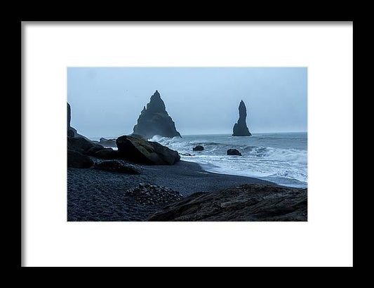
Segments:
[[[140,204],[170,204],[183,198],[180,192],[171,188],[148,183],[139,183],[138,187],[126,190],[126,195],[133,197]]]

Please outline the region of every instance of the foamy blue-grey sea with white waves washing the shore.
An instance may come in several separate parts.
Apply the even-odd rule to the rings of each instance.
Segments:
[[[187,135],[183,138],[154,136],[179,153],[181,159],[199,163],[206,171],[250,176],[279,185],[307,188],[307,133],[253,133],[250,137],[231,135]],[[203,151],[192,151],[203,145]],[[243,155],[226,155],[237,149]]]

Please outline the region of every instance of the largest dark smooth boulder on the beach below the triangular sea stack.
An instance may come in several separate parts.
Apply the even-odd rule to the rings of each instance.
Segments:
[[[142,164],[173,165],[180,160],[177,151],[157,142],[147,141],[142,136],[131,135],[117,138],[119,157]]]

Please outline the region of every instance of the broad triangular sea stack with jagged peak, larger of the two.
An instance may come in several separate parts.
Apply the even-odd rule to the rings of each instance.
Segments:
[[[138,124],[134,126],[133,133],[146,138],[152,138],[155,135],[170,138],[181,137],[175,129],[173,119],[166,112],[159,91],[154,92],[147,108],[143,108],[138,118]]]

